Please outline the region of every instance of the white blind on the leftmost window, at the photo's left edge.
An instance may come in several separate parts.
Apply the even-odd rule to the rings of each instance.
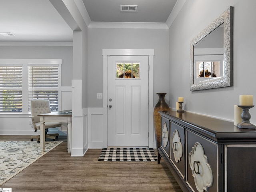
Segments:
[[[0,66],[0,112],[22,112],[22,66]]]

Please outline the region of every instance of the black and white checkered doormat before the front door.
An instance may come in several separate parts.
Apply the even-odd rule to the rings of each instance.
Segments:
[[[104,148],[99,161],[157,161],[152,148]]]

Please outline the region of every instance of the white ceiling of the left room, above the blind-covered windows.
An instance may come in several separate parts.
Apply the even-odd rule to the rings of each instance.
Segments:
[[[48,0],[1,0],[0,41],[72,41],[72,30]]]

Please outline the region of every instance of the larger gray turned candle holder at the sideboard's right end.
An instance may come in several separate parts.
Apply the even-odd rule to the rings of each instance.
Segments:
[[[251,115],[249,113],[249,109],[253,108],[254,105],[238,105],[238,107],[242,108],[243,110],[241,114],[242,122],[238,123],[236,126],[238,128],[244,128],[244,129],[255,129],[256,126],[250,123]]]

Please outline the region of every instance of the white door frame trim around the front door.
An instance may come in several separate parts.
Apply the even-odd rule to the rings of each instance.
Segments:
[[[154,49],[102,49],[103,55],[103,147],[108,147],[108,56],[148,56],[148,147],[156,148],[154,142]]]

